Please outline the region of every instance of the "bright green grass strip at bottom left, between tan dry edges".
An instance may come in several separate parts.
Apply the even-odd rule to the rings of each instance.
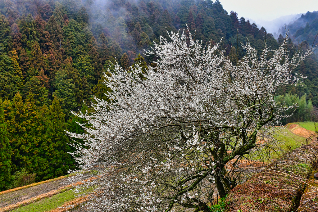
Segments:
[[[59,206],[62,206],[65,202],[74,199],[74,192],[72,190],[67,190],[65,192],[59,193],[57,195],[39,200],[38,202],[33,202],[29,205],[20,207],[18,209],[12,210],[12,212],[45,212],[52,209],[56,209]],[[33,208],[32,208],[33,207]]]

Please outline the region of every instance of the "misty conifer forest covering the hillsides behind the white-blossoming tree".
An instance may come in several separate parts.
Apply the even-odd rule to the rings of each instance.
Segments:
[[[257,50],[265,39],[273,49],[279,45],[264,28],[210,0],[0,0],[0,13],[0,190],[22,168],[36,181],[75,168],[65,130],[82,133],[76,122],[83,120],[71,111],[87,108],[94,95],[106,98],[103,73],[110,68],[111,74],[113,63],[127,68],[145,60],[146,66],[144,49],[167,38],[166,31],[189,34],[188,27],[203,43],[223,38],[233,63],[244,55],[246,38]],[[306,60],[298,69],[308,75],[305,86],[280,94],[291,91],[310,111],[311,100],[318,105],[317,67],[315,57]]]

